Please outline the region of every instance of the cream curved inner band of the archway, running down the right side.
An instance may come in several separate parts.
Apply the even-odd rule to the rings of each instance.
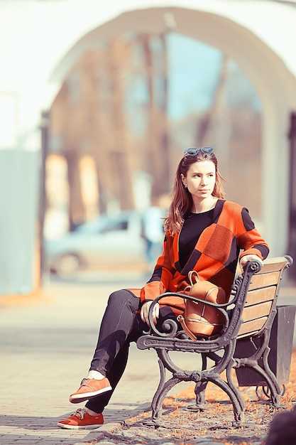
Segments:
[[[96,48],[98,41],[129,29],[163,31],[173,26],[177,33],[219,48],[234,58],[256,87],[263,106],[262,165],[263,165],[263,218],[264,235],[272,254],[283,254],[287,238],[288,144],[287,122],[295,107],[290,92],[295,89],[295,78],[260,38],[247,28],[225,16],[184,8],[151,8],[128,11],[87,33],[55,68],[51,80],[62,82],[75,61],[85,50]],[[234,38],[235,36],[235,38]],[[280,85],[280,88],[279,88]],[[280,156],[279,156],[280,147]],[[275,183],[275,177],[283,178]],[[247,184],[256,193],[256,184]],[[270,221],[273,223],[270,224]],[[278,237],[278,227],[283,237]]]

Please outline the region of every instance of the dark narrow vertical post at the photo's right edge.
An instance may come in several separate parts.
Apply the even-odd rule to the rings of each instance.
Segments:
[[[289,180],[289,235],[287,252],[296,259],[296,112],[290,115],[290,180]],[[290,270],[292,269],[292,271]],[[291,267],[289,278],[296,282],[296,274]]]

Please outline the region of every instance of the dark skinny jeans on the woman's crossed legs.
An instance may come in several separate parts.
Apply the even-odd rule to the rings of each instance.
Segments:
[[[128,349],[132,341],[136,341],[148,326],[141,320],[140,299],[127,289],[115,291],[109,296],[106,311],[99,331],[97,348],[89,370],[97,370],[109,379],[112,391],[89,400],[86,407],[94,412],[103,412],[108,404],[116,385],[126,368]],[[165,319],[176,319],[169,306],[160,309],[157,325]]]

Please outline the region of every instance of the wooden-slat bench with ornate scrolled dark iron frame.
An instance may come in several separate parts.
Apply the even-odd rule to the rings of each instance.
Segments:
[[[151,403],[152,417],[150,424],[161,424],[163,400],[168,392],[179,382],[195,382],[196,404],[191,409],[204,409],[204,393],[208,382],[212,382],[229,396],[234,409],[234,426],[239,427],[244,421],[245,404],[239,388],[234,385],[233,368],[249,368],[261,375],[267,387],[270,403],[280,406],[279,382],[268,365],[270,331],[276,315],[276,305],[283,272],[292,264],[289,256],[266,259],[263,267],[258,261],[251,261],[244,267],[243,274],[234,281],[231,298],[226,304],[209,306],[219,308],[224,316],[224,328],[221,333],[209,338],[192,341],[180,330],[177,322],[168,320],[158,331],[153,325],[152,311],[156,303],[161,304],[165,296],[180,296],[182,299],[200,301],[185,294],[167,292],[158,296],[150,306],[150,331],[138,338],[140,349],[154,348],[158,355],[160,382]],[[204,304],[204,301],[201,301]],[[294,326],[294,325],[293,325]],[[256,338],[256,350],[251,357],[236,357],[236,346],[241,338]],[[254,343],[255,344],[255,343]],[[172,351],[200,353],[201,370],[183,370],[172,360]],[[214,365],[207,368],[208,360]],[[166,377],[166,371],[171,373]],[[225,378],[221,373],[225,371]],[[146,422],[147,423],[147,422]],[[149,422],[148,422],[149,424]]]

